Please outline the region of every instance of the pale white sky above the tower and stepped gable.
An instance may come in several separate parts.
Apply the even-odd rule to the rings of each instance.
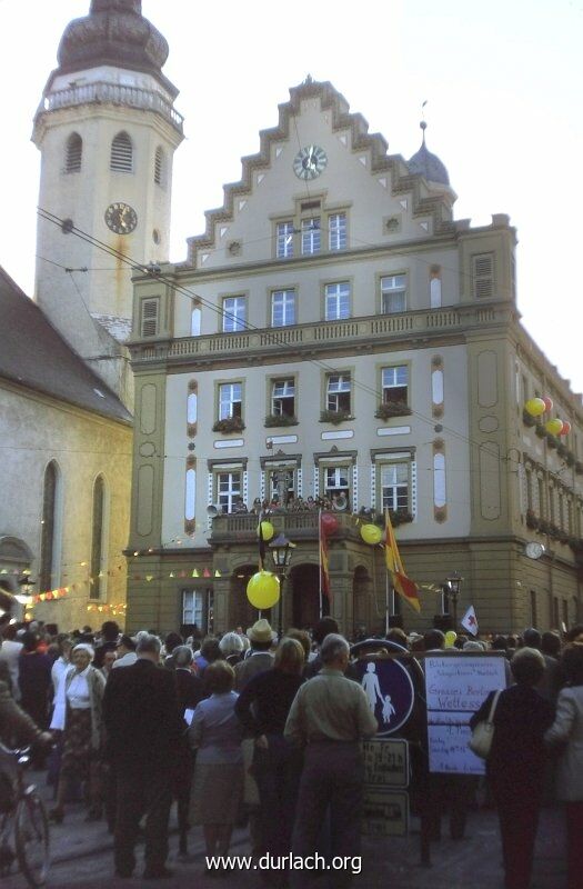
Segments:
[[[0,0],[0,264],[33,291],[40,154],[32,117],[67,23],[90,0]],[[583,391],[583,0],[143,0],[164,34],[187,139],[174,159],[170,259],[241,178],[241,158],[308,73],[330,80],[390,153],[426,141],[459,198],[456,219],[517,230],[522,320]],[[32,23],[32,19],[34,19]]]

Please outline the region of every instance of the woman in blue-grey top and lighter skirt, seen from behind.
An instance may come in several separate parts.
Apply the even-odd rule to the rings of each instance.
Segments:
[[[190,821],[202,825],[207,855],[227,855],[243,792],[242,728],[235,716],[234,671],[224,660],[205,670],[211,697],[194,710],[189,741],[197,751]]]

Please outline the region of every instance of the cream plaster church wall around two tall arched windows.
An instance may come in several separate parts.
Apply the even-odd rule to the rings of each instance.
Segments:
[[[125,600],[127,569],[122,550],[127,545],[131,479],[132,430],[77,410],[64,402],[43,398],[23,388],[3,386],[0,436],[2,507],[0,535],[23,540],[33,553],[31,578],[40,569],[43,477],[48,463],[58,466],[61,496],[60,558],[52,577],[53,589],[68,588],[57,601],[34,606],[36,618],[70,630],[84,623],[97,629]],[[91,600],[90,560],[92,491],[102,475],[109,502],[107,525],[107,592]],[[33,593],[41,592],[38,582]],[[88,605],[109,606],[88,612]],[[121,615],[121,611],[120,611]],[[123,617],[115,617],[123,623]]]

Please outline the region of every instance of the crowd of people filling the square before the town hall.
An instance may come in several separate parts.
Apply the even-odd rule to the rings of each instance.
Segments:
[[[145,630],[129,636],[107,621],[98,633],[86,627],[49,637],[42,626],[4,621],[0,740],[37,742],[37,765],[47,767],[54,785],[54,822],[81,795],[87,819],[107,820],[122,878],[134,872],[143,816],[143,877],[171,873],[173,800],[185,859],[190,828],[202,828],[210,857],[224,856],[233,826],[248,823],[253,856],[324,849],[356,860],[361,741],[375,735],[378,723],[362,686],[351,679],[351,647],[338,629],[323,618],[310,632],[290,629],[278,640],[259,619],[245,632],[238,627],[221,638],[183,639]],[[496,702],[487,761],[505,886],[530,886],[551,770],[556,798],[565,803],[569,889],[581,887],[583,627],[563,639],[535,629],[470,639],[438,629],[406,635],[395,627],[369,649],[361,642],[360,657],[383,643],[393,652],[449,647],[505,655],[507,687]],[[472,726],[491,702],[490,696]],[[463,837],[463,821],[456,829]],[[284,885],[289,876],[279,868],[261,873],[271,885]],[[351,877],[350,868],[339,871],[334,886]]]

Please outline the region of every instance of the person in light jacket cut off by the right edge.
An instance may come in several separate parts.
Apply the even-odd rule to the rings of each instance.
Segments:
[[[556,798],[565,803],[567,887],[583,882],[583,645],[565,648],[562,669],[567,680],[559,693],[556,716],[544,736],[556,747]]]

